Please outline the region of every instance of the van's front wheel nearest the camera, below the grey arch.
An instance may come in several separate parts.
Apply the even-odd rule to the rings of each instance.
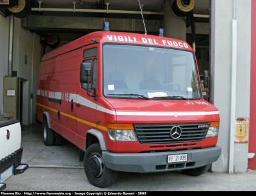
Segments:
[[[84,153],[84,172],[94,186],[104,188],[115,183],[118,172],[104,165],[99,144],[92,144]]]

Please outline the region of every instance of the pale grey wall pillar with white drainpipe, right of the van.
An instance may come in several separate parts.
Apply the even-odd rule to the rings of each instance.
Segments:
[[[246,172],[248,142],[235,137],[236,117],[250,117],[251,1],[215,0],[211,8],[211,101],[221,117],[221,157],[212,170]]]

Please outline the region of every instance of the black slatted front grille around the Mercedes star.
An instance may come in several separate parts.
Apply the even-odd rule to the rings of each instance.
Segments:
[[[179,139],[173,139],[170,135],[173,126],[179,126],[182,130]],[[210,123],[134,124],[141,144],[202,141],[205,139],[209,126]]]

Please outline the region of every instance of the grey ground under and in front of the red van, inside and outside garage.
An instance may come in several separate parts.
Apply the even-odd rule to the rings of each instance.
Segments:
[[[192,177],[180,171],[138,174],[118,172],[116,182],[108,188],[98,188],[88,182],[79,162],[78,148],[65,141],[63,146],[45,146],[42,124],[24,126],[22,130],[22,163],[28,163],[24,174],[11,176],[5,183],[8,191],[72,191],[140,192],[150,191],[256,191],[256,170],[239,174],[207,172]],[[0,193],[1,194],[1,193]],[[123,194],[124,195],[124,194]]]

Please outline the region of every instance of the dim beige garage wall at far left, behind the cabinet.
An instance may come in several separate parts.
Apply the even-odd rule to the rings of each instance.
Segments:
[[[3,77],[8,75],[10,19],[0,16],[0,111],[3,114]],[[20,27],[20,19],[13,18],[13,50],[10,55],[12,70],[17,71],[17,77],[24,79],[22,123],[35,123],[36,112],[36,81],[41,59],[40,36]],[[27,56],[28,63],[24,62]],[[31,94],[33,98],[31,99]]]

